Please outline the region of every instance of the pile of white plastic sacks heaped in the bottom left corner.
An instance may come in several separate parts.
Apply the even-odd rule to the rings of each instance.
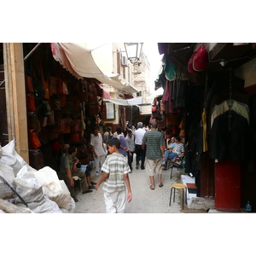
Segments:
[[[55,170],[45,166],[36,170],[15,150],[15,139],[0,146],[0,175],[15,189],[34,213],[73,213],[75,202],[66,184]],[[0,179],[0,198],[12,197],[14,192]],[[19,197],[15,205],[26,207]]]

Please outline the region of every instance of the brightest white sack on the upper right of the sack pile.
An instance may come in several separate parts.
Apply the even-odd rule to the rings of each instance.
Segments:
[[[45,166],[38,170],[38,172],[33,172],[33,174],[42,184],[44,195],[50,198],[61,193],[61,183],[55,170],[49,166]]]

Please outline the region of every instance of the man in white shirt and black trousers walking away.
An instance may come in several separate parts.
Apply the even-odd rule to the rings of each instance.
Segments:
[[[136,169],[139,168],[139,161],[142,160],[141,169],[144,170],[144,162],[145,162],[145,155],[146,155],[146,147],[143,149],[143,136],[146,131],[143,130],[143,123],[138,122],[137,123],[138,129],[134,131],[134,137],[135,137],[135,154],[136,154]]]

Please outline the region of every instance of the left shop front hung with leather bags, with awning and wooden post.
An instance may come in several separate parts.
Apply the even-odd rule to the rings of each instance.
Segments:
[[[76,44],[5,46],[9,141],[15,138],[17,152],[37,170],[49,166],[58,172],[64,143],[75,145],[81,163],[89,164],[90,135],[96,126],[102,130],[114,113],[107,108],[111,97],[102,84],[120,90],[125,84],[102,73],[90,50]]]

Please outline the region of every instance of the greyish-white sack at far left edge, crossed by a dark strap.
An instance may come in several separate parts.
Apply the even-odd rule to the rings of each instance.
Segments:
[[[0,163],[0,175],[13,187],[15,173],[12,167]],[[14,192],[0,179],[0,198],[11,197]]]

